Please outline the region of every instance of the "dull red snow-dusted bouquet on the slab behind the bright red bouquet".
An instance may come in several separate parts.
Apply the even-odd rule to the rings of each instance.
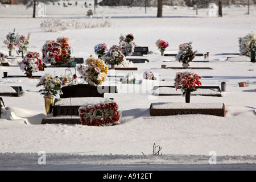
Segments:
[[[179,46],[179,52],[176,55],[176,61],[179,61],[184,64],[188,64],[191,62],[195,56],[197,51],[193,51],[192,42],[180,44]],[[189,65],[189,64],[188,64]]]

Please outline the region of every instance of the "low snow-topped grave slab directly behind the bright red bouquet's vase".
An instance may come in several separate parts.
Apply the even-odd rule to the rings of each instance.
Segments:
[[[191,96],[212,96],[221,97],[220,86],[196,86],[197,90],[191,92]],[[176,90],[175,86],[154,86],[157,96],[180,96],[180,88]]]

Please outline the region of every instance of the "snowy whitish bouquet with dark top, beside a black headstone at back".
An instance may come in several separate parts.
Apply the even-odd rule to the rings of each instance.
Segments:
[[[119,49],[122,51],[123,55],[131,56],[134,53],[135,43],[133,42],[133,34],[121,35],[119,37]]]

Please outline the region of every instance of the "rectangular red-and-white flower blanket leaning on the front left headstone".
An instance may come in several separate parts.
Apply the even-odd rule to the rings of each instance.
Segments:
[[[105,101],[102,104],[79,107],[80,121],[88,126],[112,126],[119,123],[121,111],[116,102]]]

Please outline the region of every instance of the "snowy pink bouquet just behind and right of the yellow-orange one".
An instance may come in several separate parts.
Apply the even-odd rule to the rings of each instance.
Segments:
[[[125,55],[123,55],[117,45],[112,46],[101,59],[104,60],[106,64],[114,65],[119,65],[126,60]]]

